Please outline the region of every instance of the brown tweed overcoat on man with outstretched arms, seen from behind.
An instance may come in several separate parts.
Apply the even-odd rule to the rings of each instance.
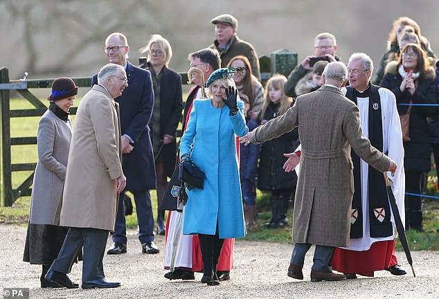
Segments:
[[[390,158],[370,145],[363,135],[357,106],[336,87],[326,85],[299,96],[283,116],[256,128],[252,142],[269,141],[297,126],[302,155],[293,241],[349,246],[354,191],[351,145],[380,172],[388,168]]]

